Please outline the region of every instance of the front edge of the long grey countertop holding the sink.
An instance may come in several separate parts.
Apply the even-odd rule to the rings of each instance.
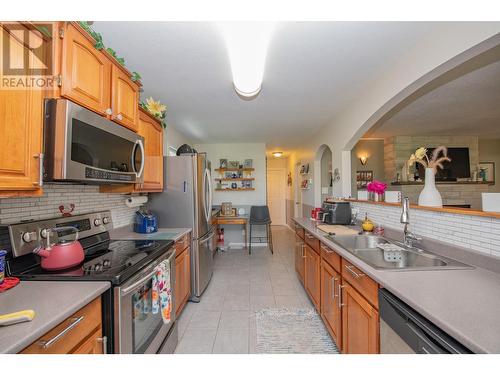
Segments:
[[[381,272],[398,272],[398,271],[377,271],[367,263],[363,262],[361,259],[357,258],[353,254],[351,254],[349,251],[345,250],[335,242],[329,240],[326,238],[325,235],[321,235],[317,233],[319,229],[315,228],[313,224],[310,222],[308,218],[293,218],[293,221],[303,227],[304,229],[308,230],[314,237],[316,237],[318,240],[320,240],[322,243],[325,245],[335,249],[337,253],[354,264],[356,267],[359,267],[362,271],[364,271],[368,276],[370,276],[373,280],[375,280],[378,284],[380,284],[383,288],[388,289],[391,293],[399,297],[401,300],[403,300],[405,303],[407,303],[410,307],[414,308],[417,312],[422,314],[424,317],[429,319],[431,322],[436,324],[439,328],[447,332],[450,336],[454,337],[456,340],[462,342],[463,345],[467,346],[470,350],[476,352],[476,353],[495,353],[491,350],[488,350],[487,348],[484,348],[480,344],[471,341],[470,338],[464,336],[460,331],[456,330],[455,328],[449,326],[445,321],[440,319],[439,317],[433,316],[429,314],[422,306],[418,305],[414,301],[412,301],[411,298],[406,296],[405,294],[402,294],[397,287],[393,287],[392,285],[388,284],[387,281],[383,280],[380,278],[380,275],[377,273]],[[484,270],[484,272],[489,272],[491,273],[492,271],[488,271],[479,267],[475,267],[475,269],[479,270]],[[415,271],[415,272],[424,272],[424,271]],[[436,271],[436,272],[450,272],[450,270],[443,270],[443,271]]]

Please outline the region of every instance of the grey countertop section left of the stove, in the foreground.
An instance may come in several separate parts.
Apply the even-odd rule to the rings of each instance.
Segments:
[[[0,315],[34,310],[31,322],[0,326],[0,353],[18,353],[110,288],[109,282],[21,281],[0,293]]]

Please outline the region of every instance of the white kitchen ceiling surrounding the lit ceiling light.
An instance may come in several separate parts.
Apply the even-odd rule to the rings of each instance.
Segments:
[[[197,143],[266,142],[287,149],[325,125],[432,33],[426,22],[287,22],[270,43],[262,92],[233,90],[222,36],[208,22],[96,22],[104,43],[138,71],[144,97]]]

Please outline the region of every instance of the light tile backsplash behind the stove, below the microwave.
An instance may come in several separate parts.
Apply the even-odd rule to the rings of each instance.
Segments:
[[[40,197],[0,199],[0,224],[57,217],[61,215],[61,204],[74,203],[73,214],[111,210],[113,226],[117,228],[130,224],[137,211],[125,205],[128,194],[100,193],[95,185],[46,184],[43,190]]]

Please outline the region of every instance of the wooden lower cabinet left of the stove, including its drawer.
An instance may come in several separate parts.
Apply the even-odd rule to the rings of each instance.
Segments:
[[[98,297],[21,354],[102,354],[106,340],[102,336],[101,315],[101,297]]]

